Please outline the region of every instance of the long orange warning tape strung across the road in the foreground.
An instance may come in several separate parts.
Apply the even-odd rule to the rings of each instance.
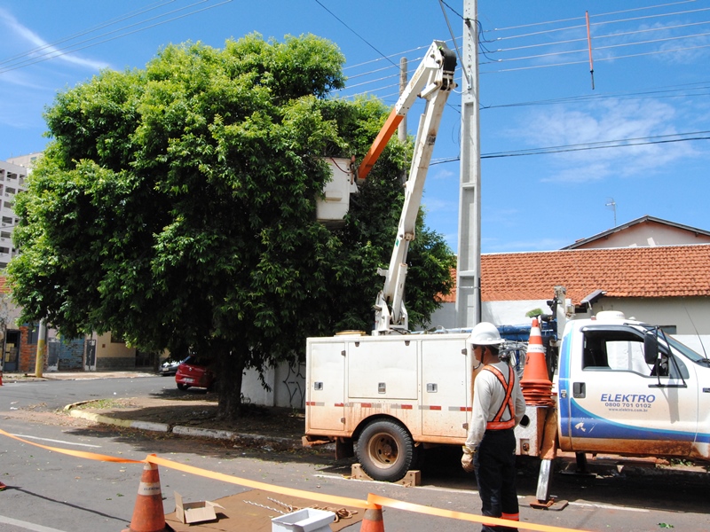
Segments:
[[[550,527],[548,525],[536,525],[534,523],[523,523],[520,521],[510,521],[494,517],[484,517],[482,515],[476,515],[474,513],[454,512],[452,510],[444,510],[442,508],[432,508],[430,506],[415,505],[414,503],[406,503],[404,501],[399,501],[398,499],[381,497],[372,493],[368,493],[367,501],[363,501],[350,497],[339,497],[335,495],[313,493],[312,491],[305,491],[303,489],[282,488],[280,486],[273,486],[272,484],[267,484],[266,482],[250,481],[248,479],[242,479],[240,477],[235,477],[225,473],[215,473],[214,471],[209,471],[209,469],[202,469],[201,467],[195,467],[194,465],[180,464],[178,462],[173,462],[172,460],[168,460],[166,458],[157,457],[154,454],[148,455],[145,460],[130,460],[128,458],[115,458],[108,455],[97,454],[94,452],[61,449],[59,447],[42,445],[41,443],[28,442],[28,440],[24,440],[18,436],[6,433],[1,428],[0,434],[12,438],[13,440],[17,440],[18,442],[28,443],[29,445],[34,445],[35,447],[40,447],[46,450],[52,450],[54,452],[59,452],[77,458],[88,458],[90,460],[99,460],[100,462],[117,462],[120,464],[145,464],[146,462],[149,462],[155,465],[163,465],[164,467],[170,467],[170,469],[182,471],[183,473],[196,474],[198,476],[206,477],[216,481],[228,482],[230,484],[237,484],[239,486],[245,486],[247,488],[252,489],[263,489],[264,491],[269,491],[271,493],[276,493],[287,497],[306,498],[313,501],[318,501],[320,503],[326,503],[328,505],[352,506],[355,508],[364,509],[388,506],[390,508],[395,508],[398,510],[405,510],[406,512],[426,513],[428,515],[434,515],[437,517],[448,517],[457,520],[468,520],[477,523],[486,523],[490,525],[502,525],[509,527],[511,526],[511,524],[513,524],[513,526],[517,526],[517,528],[523,528],[525,530],[538,530],[540,532],[583,532],[579,528]]]

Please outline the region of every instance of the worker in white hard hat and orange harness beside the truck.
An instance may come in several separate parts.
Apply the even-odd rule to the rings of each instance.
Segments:
[[[525,414],[525,399],[509,357],[501,356],[503,340],[495,325],[476,325],[470,343],[477,364],[474,370],[481,365],[483,370],[473,384],[473,409],[461,465],[467,473],[476,472],[481,513],[517,521],[514,429]],[[486,524],[481,529],[517,530]]]

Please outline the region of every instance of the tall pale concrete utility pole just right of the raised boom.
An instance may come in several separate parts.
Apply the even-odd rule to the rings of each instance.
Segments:
[[[463,0],[457,327],[473,327],[481,320],[481,157],[477,20],[477,0]]]

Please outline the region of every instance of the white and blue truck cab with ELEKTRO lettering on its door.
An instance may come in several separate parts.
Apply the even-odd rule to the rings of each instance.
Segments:
[[[710,361],[658,327],[567,322],[556,380],[561,450],[710,458]]]

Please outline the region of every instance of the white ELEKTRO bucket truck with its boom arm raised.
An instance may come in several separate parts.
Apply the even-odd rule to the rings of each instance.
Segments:
[[[403,478],[426,446],[460,446],[469,427],[477,374],[469,332],[407,334],[403,302],[407,248],[454,68],[454,54],[432,43],[358,169],[367,176],[415,98],[424,98],[372,334],[306,342],[305,439],[334,441],[336,458],[354,453],[378,481]],[[562,290],[554,301],[564,303]],[[540,460],[538,500],[549,500],[558,450],[578,460],[597,452],[710,460],[708,359],[620,313],[567,321],[564,308],[553,309],[562,319],[547,353],[556,368],[549,402],[528,402],[516,427],[517,455]]]

